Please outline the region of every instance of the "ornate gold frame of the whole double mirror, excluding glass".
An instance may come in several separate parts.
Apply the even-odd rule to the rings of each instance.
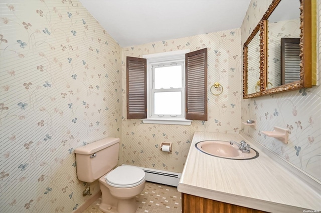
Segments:
[[[312,87],[316,81],[316,34],[314,29],[314,16],[316,12],[312,10],[312,4],[316,6],[315,0],[300,0],[300,80],[283,84],[267,89],[267,57],[268,57],[268,28],[267,19],[281,0],[272,0],[267,11],[264,13],[258,25],[260,30],[260,91],[247,94],[247,45],[256,34],[255,29],[244,43],[243,47],[243,98],[252,98],[261,95],[274,94],[299,88]],[[313,7],[313,8],[314,8]],[[314,14],[315,13],[315,14]],[[315,27],[316,28],[316,27]],[[312,45],[313,44],[313,45]]]

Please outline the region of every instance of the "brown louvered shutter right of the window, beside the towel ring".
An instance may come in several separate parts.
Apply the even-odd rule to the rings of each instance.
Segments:
[[[207,48],[189,52],[186,63],[186,119],[207,120]]]

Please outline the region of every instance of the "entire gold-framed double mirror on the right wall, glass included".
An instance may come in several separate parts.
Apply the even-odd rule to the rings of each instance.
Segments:
[[[272,0],[244,43],[243,82],[243,98],[316,84],[316,0]]]

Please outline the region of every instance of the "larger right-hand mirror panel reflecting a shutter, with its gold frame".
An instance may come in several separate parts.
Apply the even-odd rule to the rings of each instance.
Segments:
[[[273,0],[263,15],[263,95],[312,86],[311,1]]]

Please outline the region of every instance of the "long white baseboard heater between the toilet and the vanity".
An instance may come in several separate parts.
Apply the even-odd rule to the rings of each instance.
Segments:
[[[133,166],[133,165],[122,164],[122,166]],[[182,173],[177,173],[172,171],[144,168],[139,166],[135,166],[135,167],[138,167],[144,170],[145,179],[146,181],[150,181],[150,182],[178,186],[182,176]]]

